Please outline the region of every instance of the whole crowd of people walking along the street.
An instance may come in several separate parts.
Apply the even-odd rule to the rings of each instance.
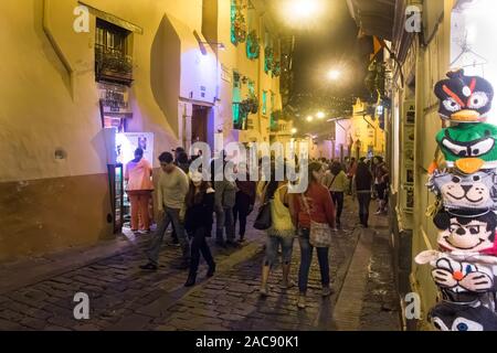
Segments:
[[[175,154],[163,152],[159,157],[161,172],[154,188],[152,168],[138,148],[135,159],[126,165],[125,179],[131,206],[133,232],[149,233],[150,216],[148,203],[151,193],[157,192],[158,224],[147,250],[148,261],[144,270],[157,270],[159,253],[169,225],[172,226],[171,242],[181,248],[179,269],[189,269],[186,287],[195,285],[200,256],[208,265],[207,277],[215,274],[216,265],[207,238],[215,234],[215,245],[222,248],[240,247],[245,242],[247,216],[253,212],[256,200],[267,202],[271,207],[271,226],[266,232],[265,259],[262,265],[261,296],[269,293],[268,278],[272,268],[281,264],[282,289],[296,284],[290,279],[290,264],[294,242],[298,239],[300,261],[298,269],[298,308],[306,308],[306,292],[315,246],[309,239],[313,225],[329,227],[330,232],[341,228],[341,215],[347,195],[355,195],[359,203],[359,221],[368,227],[371,199],[378,200],[378,214],[388,210],[389,171],[381,157],[346,160],[311,160],[308,164],[308,185],[302,194],[289,192],[288,180],[275,180],[272,164],[269,181],[230,181],[214,178],[219,168],[226,165],[223,152],[221,160],[211,162],[211,180],[202,179],[202,170],[190,171],[192,160],[182,148]],[[240,167],[240,165],[239,165]],[[243,169],[245,170],[245,169]],[[222,172],[222,171],[221,171]],[[286,173],[284,173],[286,175]],[[214,228],[215,220],[215,228]],[[239,233],[236,239],[236,224]],[[250,226],[250,225],[248,225]],[[215,229],[215,231],[214,231]],[[279,253],[281,248],[281,253]],[[332,293],[329,275],[329,247],[316,247],[321,275],[322,297]]]

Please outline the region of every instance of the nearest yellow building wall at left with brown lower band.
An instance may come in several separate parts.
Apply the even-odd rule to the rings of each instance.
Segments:
[[[134,118],[128,131],[155,133],[156,156],[178,146],[151,83],[151,47],[165,13],[201,31],[201,0],[87,0],[144,29],[133,34]],[[1,1],[0,261],[112,237],[112,213],[94,73],[95,17],[76,33],[73,0]],[[175,73],[171,73],[171,75]],[[62,149],[66,158],[55,158]],[[157,161],[154,161],[158,167]]]

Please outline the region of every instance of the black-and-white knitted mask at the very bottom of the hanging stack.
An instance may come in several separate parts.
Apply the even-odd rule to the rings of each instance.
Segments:
[[[440,331],[497,331],[497,315],[482,304],[441,302],[430,310],[429,321]]]

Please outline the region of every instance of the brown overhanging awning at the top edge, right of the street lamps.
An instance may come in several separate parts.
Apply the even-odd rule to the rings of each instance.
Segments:
[[[347,0],[350,15],[368,35],[392,41],[395,0]]]

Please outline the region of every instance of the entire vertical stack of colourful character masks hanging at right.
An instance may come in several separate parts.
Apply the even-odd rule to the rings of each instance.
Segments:
[[[440,250],[423,252],[442,302],[429,313],[442,331],[497,331],[497,127],[486,124],[494,88],[483,77],[450,72],[435,85],[440,116],[452,126],[436,135],[444,169],[434,161],[427,186]]]

